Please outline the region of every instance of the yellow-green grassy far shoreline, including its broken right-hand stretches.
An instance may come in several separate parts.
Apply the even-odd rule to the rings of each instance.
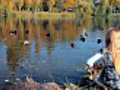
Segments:
[[[1,14],[0,17],[4,17],[5,14]],[[50,12],[35,12],[34,14],[31,11],[21,11],[21,12],[9,12],[7,18],[35,18],[35,19],[75,19],[77,14],[75,12],[61,12],[61,13],[50,13]],[[93,16],[85,16],[92,18]],[[93,18],[98,18],[99,16],[95,16]],[[101,16],[102,17],[102,16]],[[107,18],[111,17],[120,17],[120,13],[111,13],[107,16]]]

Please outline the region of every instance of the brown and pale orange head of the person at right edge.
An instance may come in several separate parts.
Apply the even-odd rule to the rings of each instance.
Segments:
[[[120,47],[118,48],[119,43],[116,43],[116,41],[118,42],[119,39],[118,37],[116,38],[117,35],[120,36],[120,30],[116,28],[110,28],[106,34],[105,44],[113,57],[115,70],[120,76]]]

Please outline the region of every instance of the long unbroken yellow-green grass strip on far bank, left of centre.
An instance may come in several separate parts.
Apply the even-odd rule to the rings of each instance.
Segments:
[[[16,18],[75,18],[75,13],[49,13],[49,12],[35,12],[34,14],[32,12],[11,12],[8,13],[8,17],[16,17]]]

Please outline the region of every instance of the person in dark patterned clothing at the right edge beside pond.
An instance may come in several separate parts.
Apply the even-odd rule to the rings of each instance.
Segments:
[[[107,62],[105,62],[105,67],[101,75],[95,79],[95,82],[108,89],[120,90],[120,30],[109,29],[106,34],[105,44],[107,52],[97,55],[99,58],[103,57],[103,55],[106,56]],[[97,61],[97,59],[93,61]],[[92,61],[92,58],[90,60]],[[92,66],[93,62],[89,64],[90,60],[88,60],[87,64]]]

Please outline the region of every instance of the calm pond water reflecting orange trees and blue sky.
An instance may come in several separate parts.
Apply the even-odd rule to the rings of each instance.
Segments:
[[[84,74],[82,58],[86,60],[104,47],[106,30],[116,25],[115,19],[111,20],[1,18],[0,82],[11,76],[24,79],[26,75],[38,82],[79,81]],[[13,30],[17,33],[11,35]],[[85,42],[79,40],[83,30],[88,33]],[[97,44],[98,38],[101,44]],[[24,41],[30,44],[24,45]]]

